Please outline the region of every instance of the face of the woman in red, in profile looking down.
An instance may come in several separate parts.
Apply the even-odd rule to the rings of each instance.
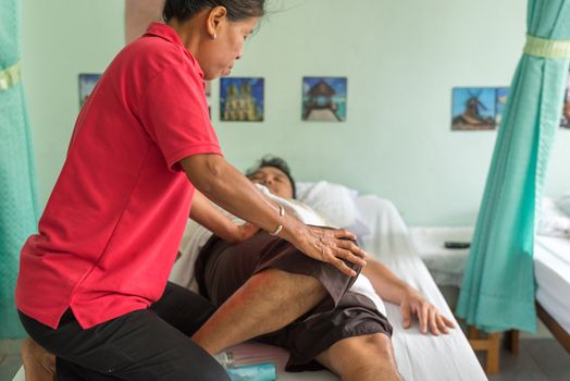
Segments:
[[[246,38],[253,32],[258,21],[259,17],[250,17],[232,22],[225,16],[212,21],[215,23],[215,38],[211,38],[197,57],[206,81],[230,75],[235,61],[241,57]]]

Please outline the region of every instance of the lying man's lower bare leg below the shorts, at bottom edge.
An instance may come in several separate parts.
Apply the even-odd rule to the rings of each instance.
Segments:
[[[340,340],[315,359],[343,381],[400,381],[394,351],[383,333]]]

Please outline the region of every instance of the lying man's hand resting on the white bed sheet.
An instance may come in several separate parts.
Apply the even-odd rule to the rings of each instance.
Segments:
[[[405,329],[411,327],[412,316],[418,316],[420,331],[423,334],[428,334],[428,331],[430,331],[437,336],[439,333],[449,333],[449,328],[455,328],[455,324],[442,316],[434,305],[412,288],[408,288],[406,292],[400,303],[400,312]]]

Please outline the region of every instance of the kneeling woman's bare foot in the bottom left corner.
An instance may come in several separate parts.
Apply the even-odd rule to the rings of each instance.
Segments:
[[[55,381],[55,355],[29,337],[22,342],[22,364],[26,381]]]

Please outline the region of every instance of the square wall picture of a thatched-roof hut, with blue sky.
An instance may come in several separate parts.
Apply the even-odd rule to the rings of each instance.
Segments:
[[[321,122],[346,121],[347,87],[346,77],[303,77],[301,119]]]

